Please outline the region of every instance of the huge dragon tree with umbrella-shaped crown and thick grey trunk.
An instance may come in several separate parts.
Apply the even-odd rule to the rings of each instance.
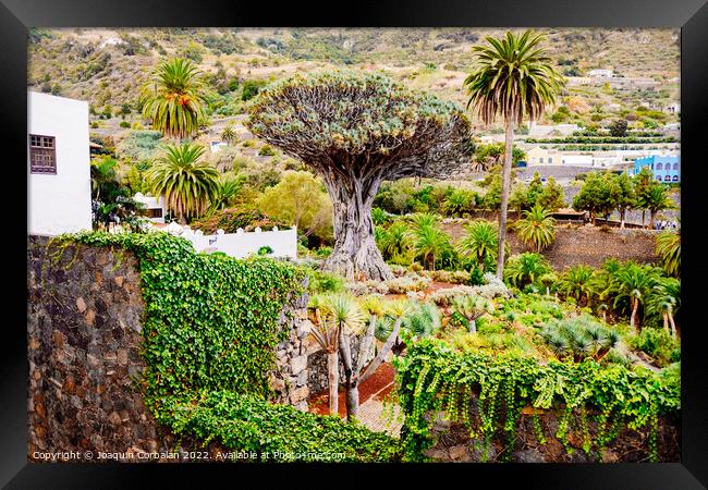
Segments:
[[[472,157],[469,122],[456,105],[367,72],[271,84],[252,102],[246,126],[322,179],[334,222],[325,268],[350,279],[392,278],[374,241],[371,204],[381,182],[442,177]]]

